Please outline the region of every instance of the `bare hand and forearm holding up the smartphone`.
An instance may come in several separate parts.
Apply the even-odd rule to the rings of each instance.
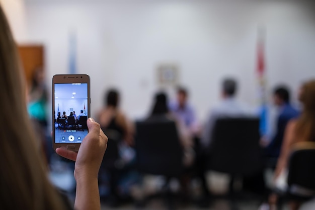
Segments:
[[[76,210],[101,209],[97,177],[108,139],[100,129],[100,124],[92,118],[88,119],[87,124],[89,133],[83,139],[78,153],[63,148],[56,149],[60,156],[75,161]]]

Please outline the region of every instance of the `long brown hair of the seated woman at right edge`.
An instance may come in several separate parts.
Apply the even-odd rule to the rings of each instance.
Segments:
[[[297,120],[295,133],[303,141],[315,142],[315,80],[306,82],[299,96],[303,112]]]

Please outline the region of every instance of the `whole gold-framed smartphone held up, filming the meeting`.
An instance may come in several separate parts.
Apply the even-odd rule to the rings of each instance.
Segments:
[[[88,134],[90,117],[90,77],[55,75],[52,78],[53,148],[77,152]]]

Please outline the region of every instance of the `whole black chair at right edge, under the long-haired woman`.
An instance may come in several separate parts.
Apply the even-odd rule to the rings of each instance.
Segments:
[[[303,202],[315,197],[315,143],[295,145],[288,165],[289,200]]]

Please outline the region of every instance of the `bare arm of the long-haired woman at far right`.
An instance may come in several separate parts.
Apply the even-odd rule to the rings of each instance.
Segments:
[[[296,143],[294,130],[295,130],[296,120],[291,120],[287,124],[284,133],[284,139],[281,147],[280,157],[275,170],[275,179],[281,174],[281,171],[287,166],[288,158],[290,155],[291,147]]]

